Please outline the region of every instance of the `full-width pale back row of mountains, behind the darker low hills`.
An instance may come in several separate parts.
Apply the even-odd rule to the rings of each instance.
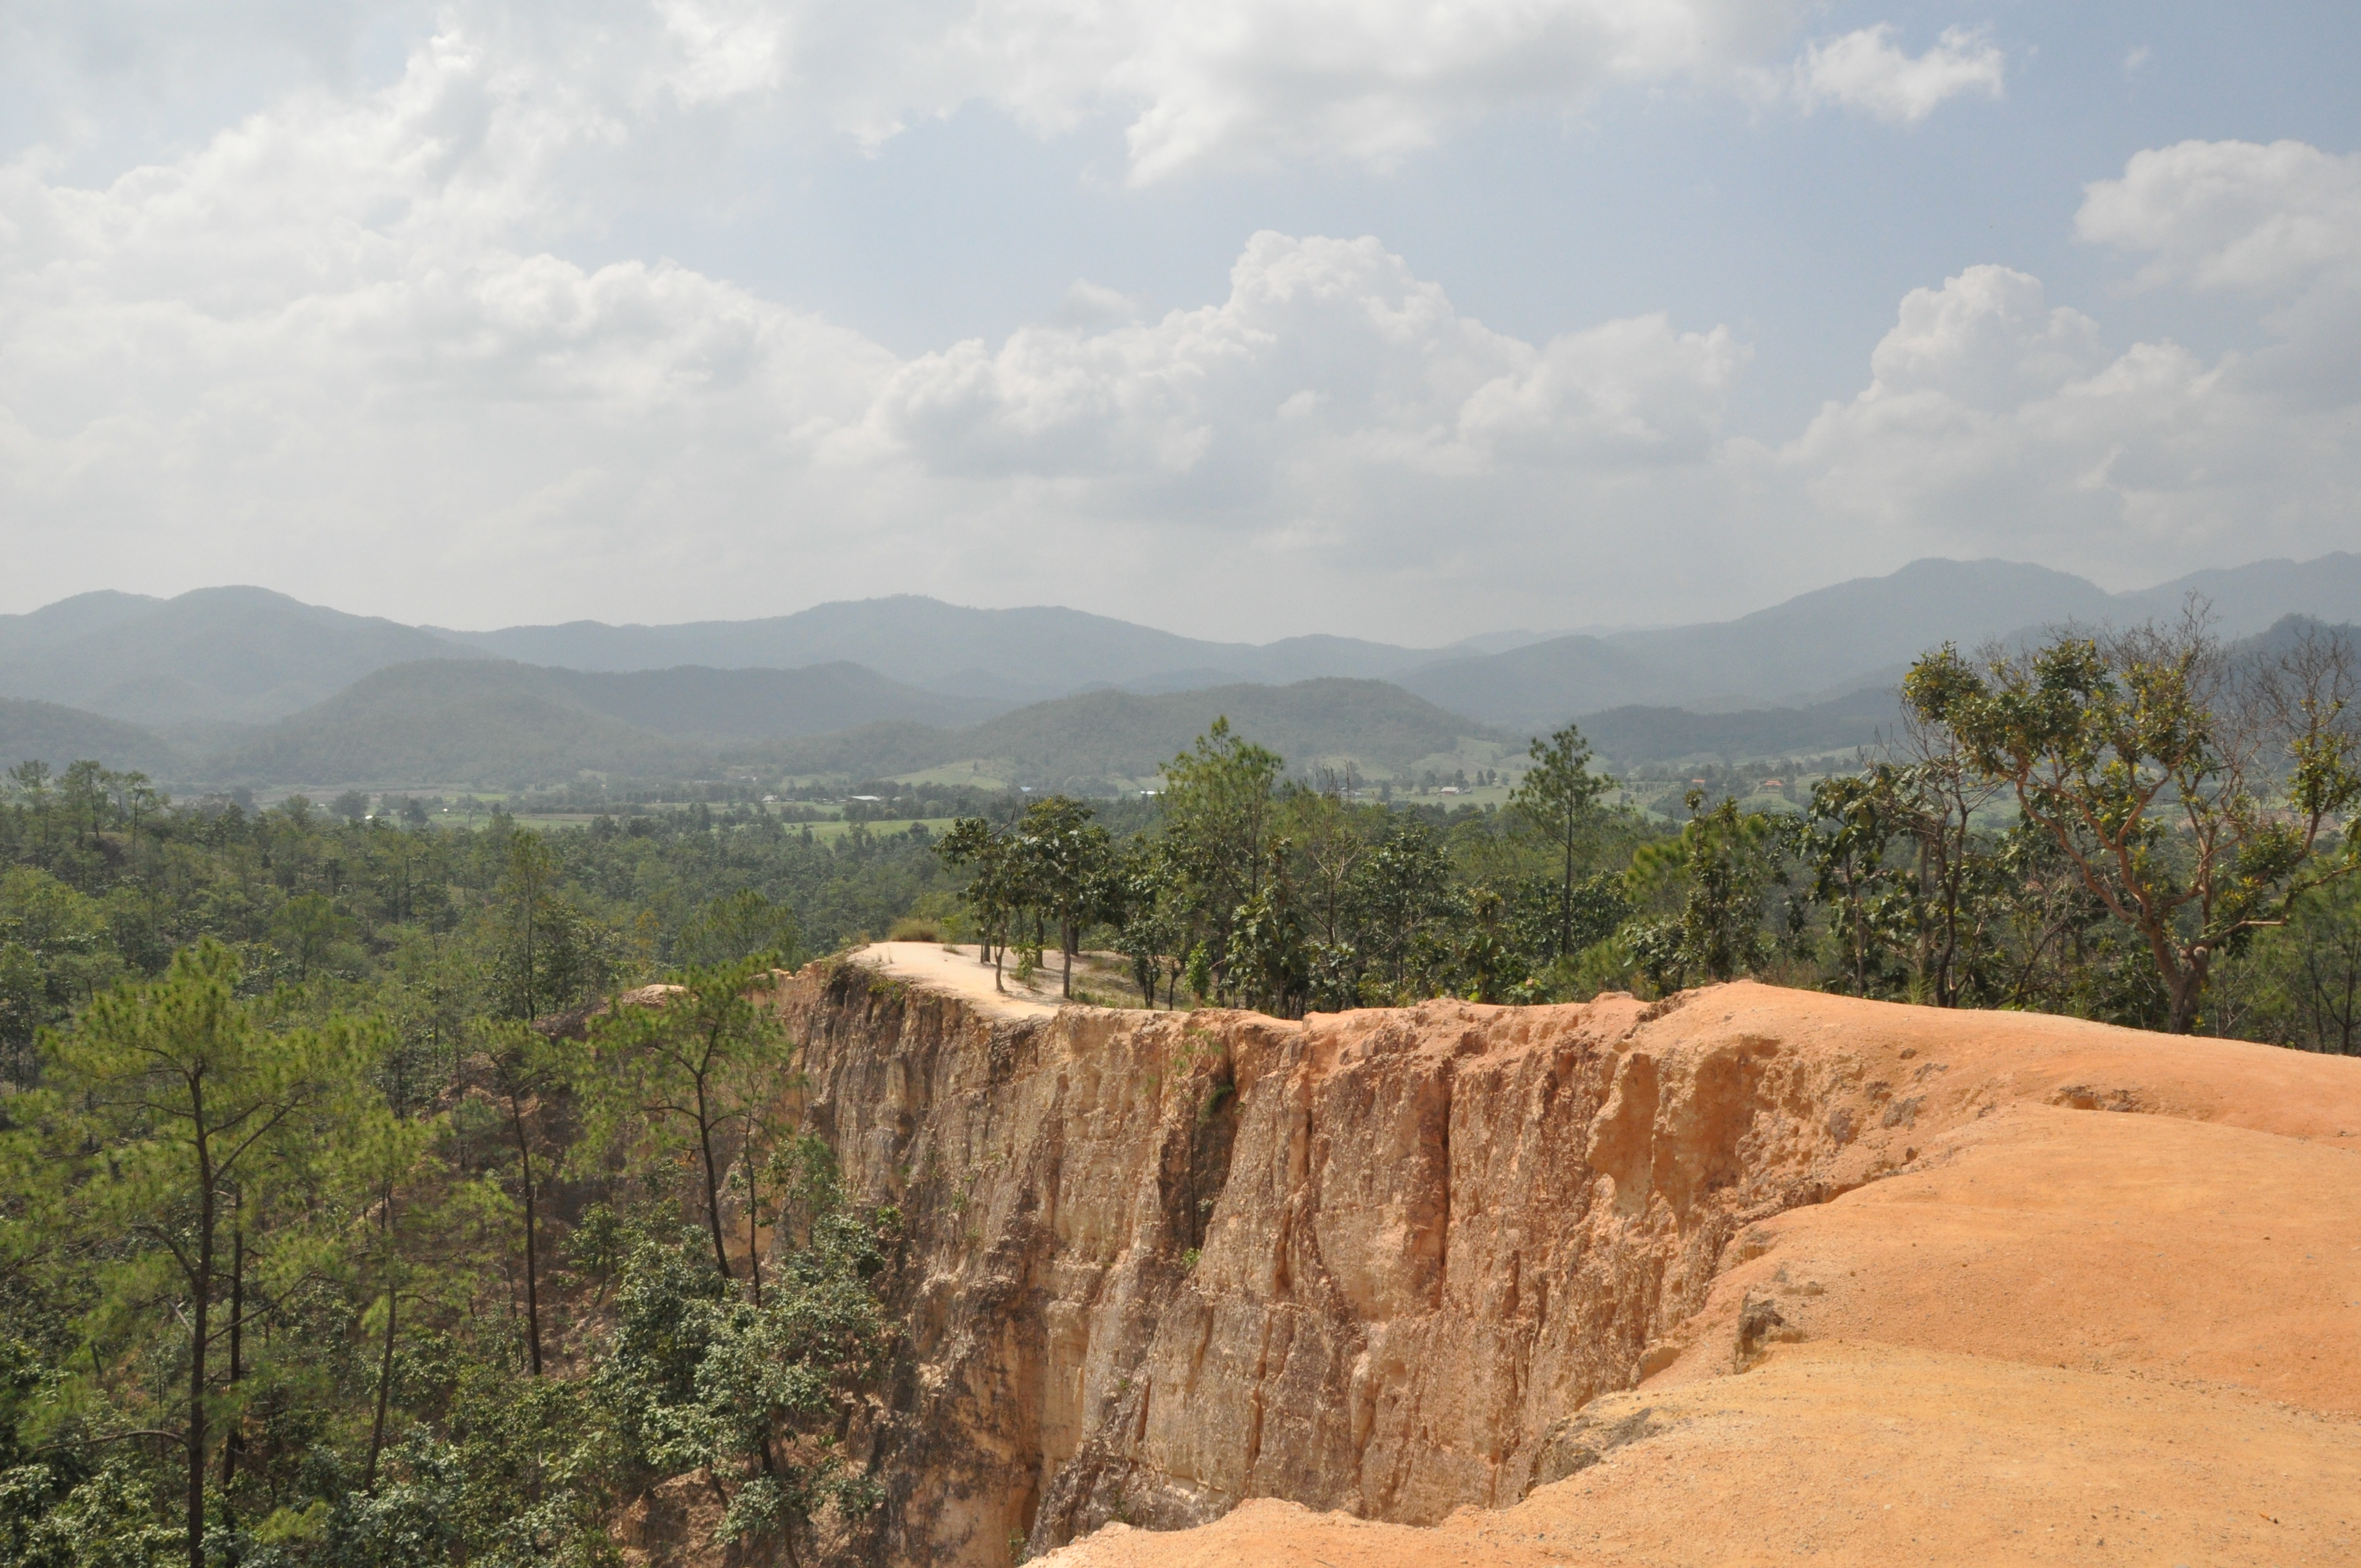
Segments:
[[[260,588],[177,600],[85,593],[0,616],[0,697],[68,704],[165,730],[191,751],[224,751],[236,749],[224,739],[238,725],[300,713],[375,671],[496,656],[614,678],[545,690],[675,739],[772,739],[869,723],[956,727],[1091,690],[1180,694],[1327,678],[1391,680],[1445,711],[1530,734],[1622,706],[1809,708],[1891,685],[1945,640],[1976,645],[2059,621],[2177,614],[2191,590],[2215,602],[2231,638],[2283,614],[2356,621],[2361,555],[2198,571],[2123,595],[2045,567],[1922,560],[1733,621],[1542,640],[1504,631],[1452,649],[1329,635],[1209,642],[1077,609],[968,609],[916,595],[763,621],[437,633]],[[680,675],[682,666],[704,673]],[[812,675],[819,666],[838,675]],[[805,678],[786,690],[756,680],[758,671]]]

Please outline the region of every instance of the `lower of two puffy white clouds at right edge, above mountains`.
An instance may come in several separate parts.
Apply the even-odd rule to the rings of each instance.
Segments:
[[[1778,451],[1839,536],[1853,520],[1910,553],[2028,555],[2108,583],[2352,543],[2361,401],[2271,352],[2106,352],[2035,279],[1971,267],[1903,300],[1872,364]]]

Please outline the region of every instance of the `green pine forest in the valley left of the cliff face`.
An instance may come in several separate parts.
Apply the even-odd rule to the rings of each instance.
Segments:
[[[815,1176],[744,989],[838,928],[831,888],[940,888],[930,843],[349,808],[172,810],[99,767],[17,770],[0,801],[0,1561],[616,1561],[616,1511],[666,1476],[593,1370],[654,1221],[737,1237],[689,1254],[720,1325],[689,1393],[727,1391],[713,1443],[774,1419],[803,1474],[734,1528],[857,1509],[805,1389],[756,1374],[890,1344],[892,1226]],[[668,961],[689,999],[604,1025],[614,1072],[586,1072],[586,1004]],[[666,1110],[692,1034],[720,1041],[711,1167]]]

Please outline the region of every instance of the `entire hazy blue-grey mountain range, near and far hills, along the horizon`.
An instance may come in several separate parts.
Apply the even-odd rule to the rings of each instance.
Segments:
[[[989,758],[1011,777],[1117,779],[1152,775],[1214,713],[1294,760],[1376,770],[1577,716],[1622,760],[1775,756],[1870,739],[1894,680],[1938,642],[2167,616],[2189,593],[2231,638],[2288,614],[2361,621],[2361,555],[2120,595],[2047,567],[1922,560],[1735,621],[1426,649],[1206,642],[914,595],[760,621],[460,633],[262,588],[87,593],[0,616],[0,763],[94,756],[182,786],[501,789],[689,777],[725,758],[855,777]]]

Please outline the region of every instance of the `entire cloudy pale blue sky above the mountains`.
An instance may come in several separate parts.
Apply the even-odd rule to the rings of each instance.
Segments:
[[[0,612],[1435,645],[2361,548],[2361,7],[0,0]]]

